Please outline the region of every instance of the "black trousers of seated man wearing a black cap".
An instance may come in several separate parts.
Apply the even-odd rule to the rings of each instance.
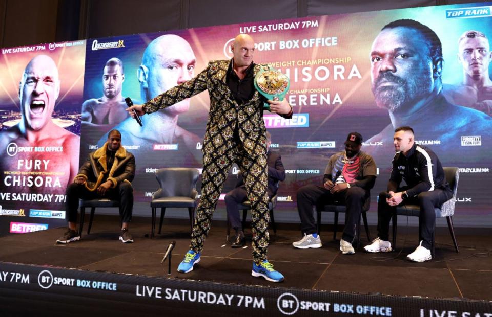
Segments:
[[[301,231],[306,235],[316,233],[313,206],[326,205],[334,201],[345,202],[345,228],[342,239],[352,242],[355,237],[355,226],[368,196],[369,191],[361,187],[351,187],[336,194],[330,193],[323,186],[306,185],[301,187],[297,191],[297,210],[301,219]]]

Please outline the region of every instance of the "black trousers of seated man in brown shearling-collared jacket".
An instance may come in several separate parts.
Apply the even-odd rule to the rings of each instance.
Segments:
[[[133,211],[133,187],[129,182],[121,182],[109,189],[104,196],[89,191],[84,185],[70,184],[66,191],[65,211],[69,222],[77,222],[78,199],[108,198],[119,201],[119,215],[122,222],[130,222]]]

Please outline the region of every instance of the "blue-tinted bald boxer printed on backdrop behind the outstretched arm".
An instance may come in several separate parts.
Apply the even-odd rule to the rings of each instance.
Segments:
[[[147,46],[137,71],[142,100],[151,100],[161,92],[190,80],[195,75],[195,63],[193,49],[184,38],[167,34],[154,39]],[[195,152],[200,138],[178,126],[178,115],[189,108],[190,100],[185,99],[157,111],[154,116],[142,118],[143,127],[128,118],[115,129],[121,132],[124,145],[140,145],[140,152],[152,150],[154,144],[179,144],[178,150],[185,146]],[[103,145],[107,139],[108,135],[103,135],[98,145]]]

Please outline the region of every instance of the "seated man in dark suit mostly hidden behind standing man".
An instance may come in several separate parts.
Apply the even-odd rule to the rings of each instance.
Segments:
[[[270,148],[272,144],[272,135],[267,132],[267,148]],[[268,150],[268,197],[272,198],[277,193],[277,187],[275,183],[285,179],[285,169],[282,164],[282,157],[276,153]],[[246,194],[246,186],[244,185],[244,178],[242,175],[237,180],[236,188],[231,190],[226,195],[226,209],[231,226],[236,231],[236,238],[232,243],[232,247],[241,247],[244,245],[244,232],[242,231],[241,219],[239,217],[239,210],[237,204],[246,201],[248,196]]]

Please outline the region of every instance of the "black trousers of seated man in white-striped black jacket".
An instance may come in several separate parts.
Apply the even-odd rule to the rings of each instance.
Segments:
[[[398,189],[402,191],[405,189]],[[434,189],[431,192],[422,192],[415,197],[403,200],[398,206],[418,205],[420,206],[419,214],[419,231],[422,238],[422,246],[432,248],[432,236],[436,223],[436,212],[434,208],[440,208],[442,204],[453,196],[451,191]],[[396,207],[391,207],[386,203],[386,192],[379,193],[378,200],[378,237],[381,240],[389,241],[389,221],[393,216]]]

